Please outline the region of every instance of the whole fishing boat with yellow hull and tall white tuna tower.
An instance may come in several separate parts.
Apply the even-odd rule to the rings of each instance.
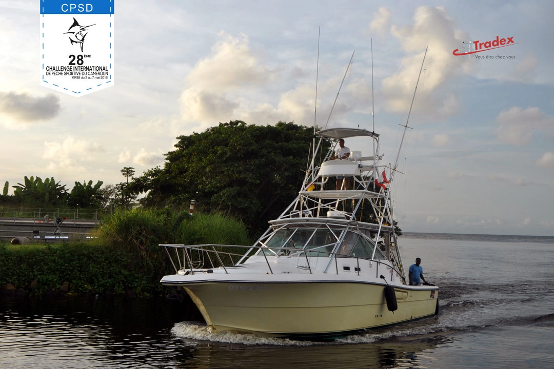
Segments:
[[[438,313],[438,287],[406,276],[389,191],[396,163],[381,164],[379,134],[316,137],[302,190],[253,246],[162,245],[176,273],[161,283],[184,289],[212,331],[332,339]],[[336,158],[340,139],[352,150]]]

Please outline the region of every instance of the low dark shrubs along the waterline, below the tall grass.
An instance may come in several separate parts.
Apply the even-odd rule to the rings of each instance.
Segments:
[[[151,295],[162,289],[153,283],[153,269],[132,253],[92,243],[0,246],[0,285],[41,295],[69,292]]]

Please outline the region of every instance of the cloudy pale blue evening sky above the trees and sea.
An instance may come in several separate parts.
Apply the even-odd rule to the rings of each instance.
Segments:
[[[393,183],[399,226],[554,235],[554,2],[115,0],[114,9],[114,85],[77,98],[40,86],[39,0],[0,0],[2,184],[31,175],[68,188],[116,184],[124,167],[163,165],[177,136],[236,119],[375,124],[394,163],[428,48]],[[453,55],[497,36],[514,44]]]

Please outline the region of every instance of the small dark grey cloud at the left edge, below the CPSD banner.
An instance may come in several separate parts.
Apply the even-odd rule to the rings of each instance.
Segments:
[[[14,91],[0,92],[0,116],[6,128],[22,129],[26,124],[58,116],[60,99],[54,93],[44,97]]]

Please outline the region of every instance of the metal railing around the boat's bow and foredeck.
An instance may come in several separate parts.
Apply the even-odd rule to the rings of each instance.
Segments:
[[[171,264],[176,273],[205,273],[208,269],[222,268],[225,274],[229,274],[229,269],[237,267],[245,267],[244,263],[237,264],[236,260],[244,256],[244,253],[240,253],[241,249],[248,249],[247,253],[251,256],[261,252],[263,254],[266,266],[268,267],[269,274],[275,274],[271,268],[271,263],[268,257],[301,257],[306,259],[306,266],[297,266],[304,268],[313,274],[312,267],[310,266],[310,257],[333,257],[335,264],[335,272],[338,273],[338,260],[342,258],[356,259],[355,272],[360,276],[361,267],[360,261],[368,261],[370,263],[376,263],[375,273],[376,277],[379,277],[379,266],[385,268],[391,268],[393,272],[396,272],[402,278],[402,273],[395,266],[391,266],[382,262],[379,259],[371,259],[366,257],[350,256],[347,254],[341,254],[337,252],[329,252],[324,250],[318,250],[318,248],[312,249],[299,249],[296,247],[267,247],[267,246],[242,246],[242,245],[183,245],[183,244],[163,244],[170,258]],[[174,256],[172,256],[171,249],[174,249]],[[230,250],[229,250],[230,249]],[[229,250],[229,251],[225,251]],[[179,254],[179,252],[182,254]],[[177,264],[175,263],[175,260]],[[225,264],[228,261],[228,264]],[[206,267],[208,265],[208,267]],[[208,272],[209,273],[209,272]],[[392,280],[392,273],[391,273]]]

